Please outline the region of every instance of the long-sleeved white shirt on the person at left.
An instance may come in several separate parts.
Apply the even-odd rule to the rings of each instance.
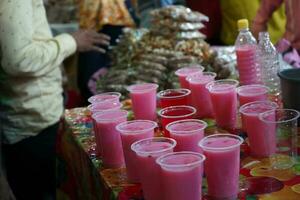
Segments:
[[[71,35],[52,37],[43,0],[0,1],[0,133],[6,143],[59,121],[59,66],[75,51]]]

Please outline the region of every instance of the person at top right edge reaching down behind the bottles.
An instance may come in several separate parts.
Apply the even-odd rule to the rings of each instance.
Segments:
[[[283,38],[277,44],[277,50],[282,53],[283,59],[289,64],[300,67],[300,29],[298,22],[300,19],[299,0],[262,0],[256,17],[251,27],[252,32],[257,37],[259,32],[269,30],[267,23],[273,13],[279,7],[285,5],[286,25]]]

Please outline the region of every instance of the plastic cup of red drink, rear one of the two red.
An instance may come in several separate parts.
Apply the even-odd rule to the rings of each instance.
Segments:
[[[157,97],[160,101],[160,107],[188,105],[188,97],[191,94],[189,89],[167,89],[160,91]]]

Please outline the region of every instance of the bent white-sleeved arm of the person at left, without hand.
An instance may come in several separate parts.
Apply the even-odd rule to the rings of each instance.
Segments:
[[[1,65],[12,76],[45,74],[76,51],[76,41],[69,34],[47,40],[34,38],[33,4],[32,0],[0,3]]]

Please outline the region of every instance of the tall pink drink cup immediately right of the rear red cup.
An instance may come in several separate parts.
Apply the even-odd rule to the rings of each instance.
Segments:
[[[197,109],[197,118],[214,117],[209,91],[205,86],[214,81],[216,76],[214,72],[203,72],[192,74],[186,79],[192,92],[192,106]]]

